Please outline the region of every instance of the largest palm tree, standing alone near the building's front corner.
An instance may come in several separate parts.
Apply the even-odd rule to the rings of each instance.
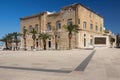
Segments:
[[[71,49],[71,39],[72,39],[72,33],[75,32],[77,33],[78,32],[78,26],[77,25],[64,25],[63,26],[67,31],[68,31],[68,38],[69,38],[69,49]]]

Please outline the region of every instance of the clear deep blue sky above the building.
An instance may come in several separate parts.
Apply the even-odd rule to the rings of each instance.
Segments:
[[[120,0],[0,0],[0,38],[20,32],[19,18],[43,11],[59,11],[61,7],[82,3],[104,17],[104,26],[120,33]]]

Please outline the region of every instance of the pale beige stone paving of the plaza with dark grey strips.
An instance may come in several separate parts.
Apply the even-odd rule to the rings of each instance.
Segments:
[[[0,51],[0,80],[120,80],[120,49]]]

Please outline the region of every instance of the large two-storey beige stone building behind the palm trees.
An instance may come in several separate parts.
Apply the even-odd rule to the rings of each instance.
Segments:
[[[93,45],[93,36],[103,36],[104,18],[81,4],[72,4],[63,7],[58,13],[43,12],[40,14],[23,17],[20,19],[21,33],[26,28],[38,28],[38,33],[47,32],[53,37],[47,40],[47,49],[55,49],[55,38],[57,49],[68,49],[68,32],[63,25],[69,23],[79,26],[79,32],[73,33],[72,48],[86,48]],[[56,37],[55,37],[56,36]],[[32,36],[28,34],[27,48],[33,46]],[[24,40],[22,39],[22,46]],[[42,41],[38,41],[38,48],[43,48]]]

